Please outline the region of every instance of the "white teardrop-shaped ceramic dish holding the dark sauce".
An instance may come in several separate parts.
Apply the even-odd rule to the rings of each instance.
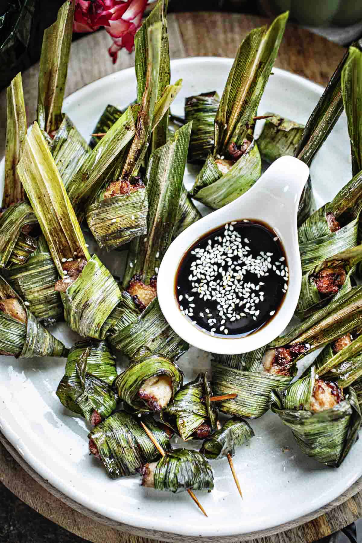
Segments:
[[[283,332],[293,317],[301,289],[302,271],[297,236],[297,212],[308,175],[309,168],[306,164],[294,157],[282,156],[269,166],[249,191],[189,226],[170,245],[158,270],[157,296],[164,317],[182,339],[204,351],[235,355],[258,349]],[[209,330],[195,326],[195,321],[192,320],[194,317],[187,317],[182,313],[176,284],[179,267],[188,251],[209,232],[225,224],[252,223],[253,221],[269,226],[269,229],[277,236],[278,243],[281,243],[286,257],[285,269],[289,274],[288,288],[283,294],[278,310],[275,314],[271,312],[273,315],[270,319],[268,318],[258,329],[243,335],[222,334],[218,318],[218,324],[215,324],[218,328],[210,333]],[[221,237],[219,239],[221,240]],[[284,261],[283,258],[281,260]],[[255,285],[253,284],[252,287],[254,288]],[[259,296],[258,292],[256,295]],[[189,296],[194,296],[195,311],[205,311],[200,309],[198,292],[192,294],[190,292]],[[208,299],[202,304],[207,308]],[[243,308],[240,311],[243,311]]]

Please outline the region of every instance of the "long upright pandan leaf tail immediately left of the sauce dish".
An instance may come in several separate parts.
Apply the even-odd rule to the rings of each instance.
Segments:
[[[126,288],[135,274],[149,282],[157,274],[162,257],[172,242],[173,230],[185,172],[191,125],[175,132],[172,140],[150,156],[146,178],[148,192],[148,232],[131,242],[123,277]],[[163,351],[161,351],[163,352]]]

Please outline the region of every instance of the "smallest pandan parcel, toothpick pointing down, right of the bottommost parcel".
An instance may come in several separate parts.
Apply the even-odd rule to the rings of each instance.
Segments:
[[[243,445],[254,436],[249,422],[234,417],[225,422],[224,426],[206,438],[200,449],[207,459],[217,460],[228,454],[234,456],[235,447]]]

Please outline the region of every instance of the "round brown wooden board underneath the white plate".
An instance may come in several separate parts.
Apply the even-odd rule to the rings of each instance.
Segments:
[[[267,21],[262,17],[219,12],[169,15],[171,58],[233,57],[247,32],[265,22]],[[109,45],[110,37],[105,31],[87,35],[73,43],[66,96],[104,75],[134,65],[134,54],[129,55],[126,52],[120,52],[117,64],[113,65],[107,55]],[[342,47],[293,24],[288,24],[276,66],[326,85],[343,54]],[[38,69],[39,66],[35,65],[23,74],[28,119],[35,118]],[[5,92],[3,91],[0,93],[0,156],[3,154],[4,141]],[[107,543],[148,543],[151,541],[144,537],[147,534],[142,531],[138,531],[138,535],[132,535],[128,533],[131,528],[118,526],[117,529],[117,526],[110,526],[107,519],[96,516],[79,504],[67,500],[24,462],[1,433],[0,481],[37,512],[86,540],[94,543],[104,541]],[[361,489],[362,478],[344,495],[314,514],[263,533],[249,534],[247,538],[239,538],[239,540],[247,539],[249,543],[296,541],[309,543],[332,534],[362,516]],[[156,533],[151,535],[158,540],[162,537]],[[164,539],[166,538],[162,538]],[[200,541],[200,538],[194,541]]]

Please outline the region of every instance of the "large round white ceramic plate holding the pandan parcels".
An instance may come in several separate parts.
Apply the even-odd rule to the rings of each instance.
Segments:
[[[231,65],[231,59],[221,58],[172,62],[172,80],[183,78],[173,112],[183,115],[184,99],[190,94],[217,90],[221,95]],[[65,100],[64,111],[88,140],[105,106],[127,105],[134,99],[135,90],[134,70],[130,68],[75,92]],[[305,123],[321,93],[320,86],[275,69],[259,114],[274,111]],[[317,205],[331,199],[350,179],[350,147],[344,116],[315,158],[311,174]],[[188,168],[187,186],[192,178],[193,168]],[[107,259],[110,268],[116,269],[118,258],[118,253],[111,254]],[[67,346],[77,338],[65,324],[53,331]],[[62,493],[94,512],[131,526],[217,539],[249,533],[313,512],[362,475],[361,441],[353,446],[338,470],[327,468],[303,456],[288,428],[269,412],[251,421],[256,437],[240,447],[234,457],[243,501],[227,460],[212,462],[215,489],[210,494],[198,493],[208,513],[206,519],[186,493],[172,495],[144,489],[139,486],[138,476],[111,481],[101,464],[88,456],[88,426],[63,408],[55,395],[64,359],[1,358],[0,429],[5,437],[32,468]],[[209,355],[190,349],[179,362],[186,377],[193,378],[209,367]]]

